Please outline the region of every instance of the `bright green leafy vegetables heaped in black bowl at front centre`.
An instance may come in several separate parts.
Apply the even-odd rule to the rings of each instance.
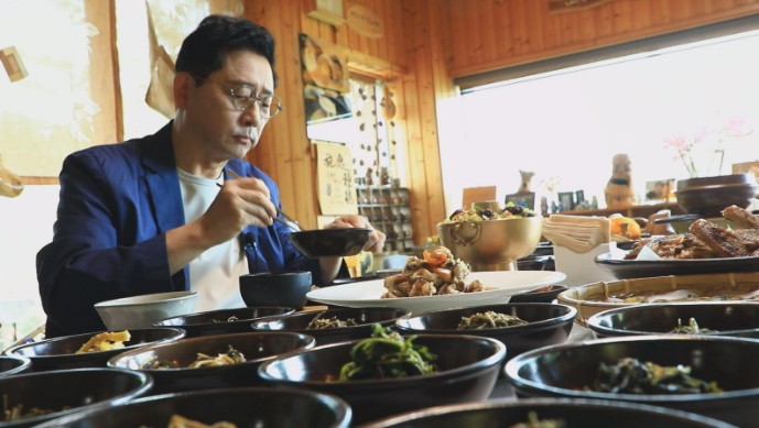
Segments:
[[[437,355],[414,344],[416,336],[402,337],[376,323],[371,337],[350,350],[351,361],[343,365],[340,381],[397,378],[434,373]]]

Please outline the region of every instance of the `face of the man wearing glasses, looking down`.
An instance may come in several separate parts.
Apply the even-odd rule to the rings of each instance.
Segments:
[[[248,86],[248,88],[242,88]],[[243,158],[258,144],[268,119],[261,116],[261,106],[253,102],[237,110],[230,89],[254,96],[273,95],[274,77],[269,62],[249,51],[227,54],[221,69],[198,83],[187,98],[187,125],[194,139],[209,160],[224,162]]]

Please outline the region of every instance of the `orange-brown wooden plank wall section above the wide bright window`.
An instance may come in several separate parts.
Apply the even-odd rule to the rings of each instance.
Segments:
[[[447,13],[440,24],[453,33],[444,46],[453,77],[759,13],[759,0],[611,0],[555,14],[547,0],[438,3]]]

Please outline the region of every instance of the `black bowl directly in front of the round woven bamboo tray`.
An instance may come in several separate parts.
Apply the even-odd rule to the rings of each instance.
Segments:
[[[587,319],[597,338],[664,334],[693,318],[700,329],[717,336],[759,339],[759,305],[749,301],[701,301],[632,305],[598,312]]]

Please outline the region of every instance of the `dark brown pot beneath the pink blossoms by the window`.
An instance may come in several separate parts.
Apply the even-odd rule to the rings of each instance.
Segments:
[[[703,218],[722,217],[720,211],[731,205],[746,208],[757,197],[753,174],[730,174],[677,180],[677,204],[688,213]]]

